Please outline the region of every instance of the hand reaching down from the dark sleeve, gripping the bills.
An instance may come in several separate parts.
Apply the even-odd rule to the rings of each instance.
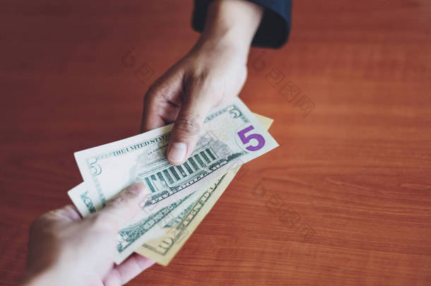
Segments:
[[[172,165],[192,153],[209,110],[240,93],[262,13],[248,1],[213,1],[195,47],[148,90],[141,131],[175,122],[167,147]]]

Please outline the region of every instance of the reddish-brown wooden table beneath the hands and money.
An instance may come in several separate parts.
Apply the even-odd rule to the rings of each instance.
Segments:
[[[199,37],[191,1],[87,2],[0,4],[2,285],[81,181],[73,152],[138,133],[150,83]],[[431,285],[430,36],[429,1],[295,1],[289,43],[252,49],[240,95],[281,147],[129,285]]]

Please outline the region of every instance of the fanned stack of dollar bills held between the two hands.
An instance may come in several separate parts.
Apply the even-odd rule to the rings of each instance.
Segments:
[[[167,266],[211,210],[240,166],[276,148],[272,119],[235,98],[211,110],[183,165],[167,162],[172,124],[75,153],[83,183],[69,196],[83,217],[135,182],[148,186],[141,211],[117,236],[116,263],[137,252]]]

